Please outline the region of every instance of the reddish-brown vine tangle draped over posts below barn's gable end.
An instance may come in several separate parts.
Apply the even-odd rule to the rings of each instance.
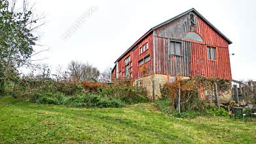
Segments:
[[[160,87],[162,98],[172,100],[175,107],[179,88],[181,89],[181,105],[183,111],[196,110],[201,111],[205,109],[206,103],[200,96],[204,92],[214,92],[214,82],[217,83],[219,92],[230,90],[231,82],[225,79],[206,78],[198,75],[191,79],[175,78],[172,83],[166,83]],[[177,103],[176,103],[177,104]]]

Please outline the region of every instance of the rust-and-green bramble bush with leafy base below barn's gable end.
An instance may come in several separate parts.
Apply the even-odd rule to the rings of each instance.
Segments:
[[[227,116],[229,113],[225,109],[217,109],[215,105],[210,105],[200,97],[200,88],[212,91],[213,82],[221,87],[221,91],[230,88],[230,81],[223,79],[210,79],[200,75],[192,79],[180,80],[166,83],[160,87],[162,99],[155,101],[156,106],[164,113],[175,117],[197,117],[200,115]],[[181,113],[177,113],[178,89],[181,89]]]

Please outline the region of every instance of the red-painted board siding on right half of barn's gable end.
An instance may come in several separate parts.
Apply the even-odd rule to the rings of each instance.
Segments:
[[[191,43],[191,77],[204,75],[221,79],[232,79],[229,59],[229,43],[206,24],[200,17],[196,17],[196,33],[204,43]],[[216,48],[217,60],[208,60],[207,46]]]

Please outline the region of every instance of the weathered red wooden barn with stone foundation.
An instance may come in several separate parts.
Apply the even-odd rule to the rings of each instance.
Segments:
[[[231,43],[204,16],[190,9],[152,27],[130,46],[115,62],[112,79],[134,79],[151,88],[152,95],[158,95],[159,84],[175,76],[231,80]]]

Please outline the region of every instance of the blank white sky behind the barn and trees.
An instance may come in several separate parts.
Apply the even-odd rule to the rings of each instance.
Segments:
[[[20,0],[18,0],[20,1]],[[71,60],[89,62],[103,71],[151,27],[194,7],[233,43],[229,46],[232,78],[256,79],[253,45],[256,33],[256,1],[95,1],[29,0],[37,13],[45,13],[40,48],[50,48],[37,58],[52,67]],[[90,7],[98,9],[62,39]],[[254,35],[253,35],[254,34]]]

